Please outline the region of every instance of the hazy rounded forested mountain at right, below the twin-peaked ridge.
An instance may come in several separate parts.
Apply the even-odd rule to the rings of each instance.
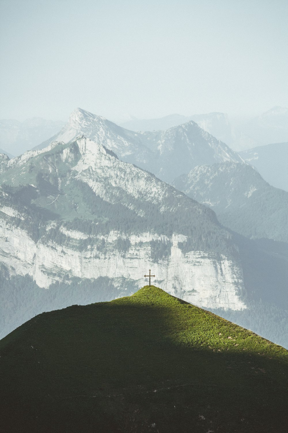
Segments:
[[[224,226],[243,236],[288,242],[288,192],[269,185],[250,165],[196,167],[174,186],[207,204]]]

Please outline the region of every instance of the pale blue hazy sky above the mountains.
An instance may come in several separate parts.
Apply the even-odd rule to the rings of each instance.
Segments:
[[[0,118],[288,106],[288,1],[0,0]]]

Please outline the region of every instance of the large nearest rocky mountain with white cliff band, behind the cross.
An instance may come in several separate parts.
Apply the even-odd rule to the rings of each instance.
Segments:
[[[0,181],[2,305],[9,298],[13,316],[9,321],[6,313],[6,330],[25,317],[13,296],[25,306],[29,285],[51,309],[59,304],[39,288],[60,285],[63,293],[71,289],[66,302],[82,302],[87,281],[92,287],[92,279],[106,278],[111,299],[141,287],[149,268],[165,290],[187,301],[246,307],[237,246],[215,213],[103,145],[84,137],[51,143],[9,160]],[[103,300],[102,291],[87,296]],[[45,308],[39,300],[37,306]]]

